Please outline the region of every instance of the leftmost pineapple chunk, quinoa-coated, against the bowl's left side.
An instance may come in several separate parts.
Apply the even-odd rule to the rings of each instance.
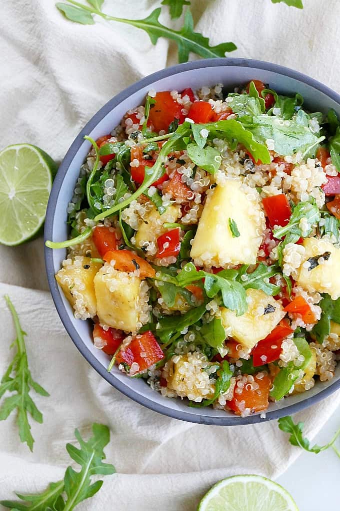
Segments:
[[[100,268],[101,263],[93,263],[88,257],[76,255],[72,261],[66,259],[63,268],[56,274],[56,281],[78,319],[92,318],[97,313],[93,280]]]

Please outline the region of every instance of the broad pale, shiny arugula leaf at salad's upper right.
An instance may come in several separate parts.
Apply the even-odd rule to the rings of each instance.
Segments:
[[[297,151],[309,150],[324,140],[312,133],[308,126],[296,121],[283,120],[276,115],[245,115],[239,120],[247,131],[250,131],[255,140],[265,143],[274,141],[275,151],[283,156],[291,155]]]

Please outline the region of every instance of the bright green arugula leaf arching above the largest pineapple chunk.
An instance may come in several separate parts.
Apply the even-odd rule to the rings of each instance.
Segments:
[[[264,164],[271,162],[267,147],[255,141],[252,133],[245,129],[240,121],[235,119],[225,119],[216,123],[192,124],[192,133],[196,144],[203,148],[206,144],[206,138],[201,135],[202,129],[210,132],[213,138],[224,138],[229,143],[239,142],[252,154],[255,161],[261,161]]]

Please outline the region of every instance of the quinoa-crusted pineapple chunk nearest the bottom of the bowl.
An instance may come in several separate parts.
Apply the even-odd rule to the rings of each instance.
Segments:
[[[170,367],[168,388],[174,390],[177,396],[189,398],[200,403],[202,399],[212,399],[215,385],[211,383],[205,367],[211,365],[203,353],[187,353],[172,357],[173,367]]]

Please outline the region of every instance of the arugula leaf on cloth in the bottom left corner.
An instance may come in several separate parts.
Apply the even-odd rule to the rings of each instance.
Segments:
[[[92,431],[93,435],[87,442],[77,429],[74,431],[80,449],[72,444],[66,444],[66,450],[70,457],[81,466],[79,472],[68,467],[64,479],[50,483],[44,492],[33,495],[17,493],[17,497],[22,502],[3,500],[1,504],[17,511],[71,511],[83,500],[96,494],[103,481],[92,482],[91,477],[97,474],[114,474],[115,468],[110,463],[102,462],[105,459],[103,449],[110,442],[109,428],[94,423]]]

